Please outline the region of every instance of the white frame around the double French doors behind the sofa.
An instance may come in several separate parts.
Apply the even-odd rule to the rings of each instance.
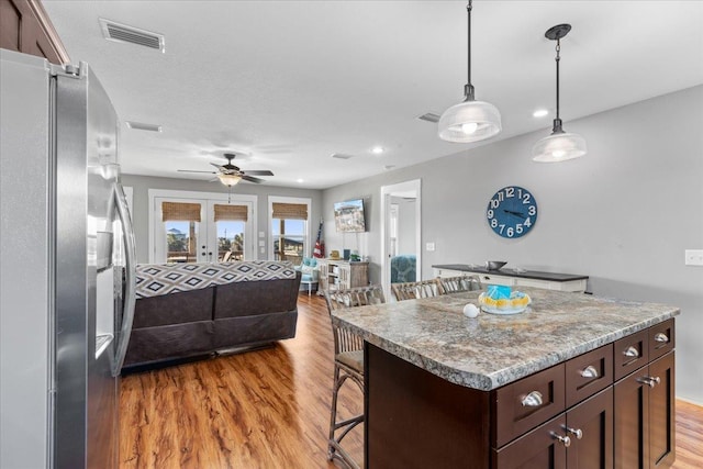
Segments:
[[[245,238],[245,245],[246,245],[246,250],[248,253],[250,253],[252,255],[252,259],[257,259],[258,258],[258,254],[257,254],[257,247],[256,247],[256,233],[258,230],[258,220],[257,220],[257,203],[258,203],[258,197],[257,196],[249,196],[249,194],[227,194],[227,193],[222,193],[222,192],[199,192],[199,191],[186,191],[186,190],[170,190],[170,189],[149,189],[148,190],[148,199],[149,199],[149,210],[148,210],[148,214],[149,214],[149,246],[148,246],[148,252],[149,252],[149,264],[155,264],[155,259],[156,259],[156,213],[157,210],[159,210],[158,206],[156,206],[156,199],[181,199],[181,200],[192,200],[192,201],[198,201],[198,202],[205,202],[204,208],[201,208],[201,210],[205,210],[205,214],[208,213],[208,202],[209,201],[215,201],[215,202],[224,202],[224,203],[232,203],[232,204],[237,204],[237,203],[246,203],[246,204],[250,204],[250,210],[249,213],[247,215],[248,220],[247,220],[247,224],[252,223],[249,226],[250,230],[250,235],[247,236]],[[205,220],[204,223],[209,224],[210,220]],[[208,230],[209,226],[205,228]],[[211,236],[208,235],[208,243],[211,242]],[[215,235],[215,239],[216,239],[216,235]],[[250,250],[249,250],[250,249]]]

